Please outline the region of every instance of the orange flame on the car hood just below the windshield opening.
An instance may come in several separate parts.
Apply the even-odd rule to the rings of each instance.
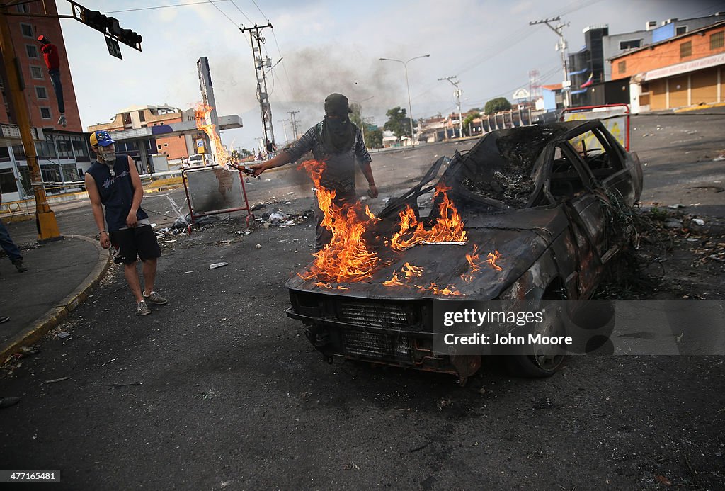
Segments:
[[[405,210],[400,212],[400,231],[390,241],[393,249],[402,251],[423,241],[466,242],[468,240],[468,236],[463,230],[463,220],[460,218],[460,213],[458,213],[458,210],[446,193],[448,190],[450,188],[444,186],[443,183],[439,183],[436,186],[434,199],[442,196],[442,201],[438,206],[439,216],[436,218],[436,223],[431,230],[423,228],[423,223],[415,218],[415,212],[410,206],[405,207]],[[409,239],[403,238],[409,235]]]

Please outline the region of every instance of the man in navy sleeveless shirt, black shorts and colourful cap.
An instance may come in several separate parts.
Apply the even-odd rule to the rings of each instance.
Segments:
[[[165,305],[168,302],[154,291],[156,263],[161,257],[161,249],[149,215],[141,208],[141,199],[144,198],[141,178],[131,157],[116,155],[115,141],[107,131],[94,131],[90,141],[96,162],[86,171],[86,191],[91,198],[101,246],[104,249],[114,247],[117,251],[115,262],[123,263],[126,281],[136,297],[136,313],[150,314],[149,303]],[[143,292],[138,278],[137,257],[143,262]]]

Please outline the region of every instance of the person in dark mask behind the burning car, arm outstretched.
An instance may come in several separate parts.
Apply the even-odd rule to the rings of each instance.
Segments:
[[[298,160],[302,155],[312,151],[318,162],[325,163],[320,176],[320,186],[335,191],[334,204],[342,206],[357,200],[355,194],[355,162],[360,165],[363,176],[368,181],[368,196],[378,197],[378,188],[370,167],[372,158],[365,148],[363,132],[349,119],[347,97],[342,94],[330,94],[325,99],[325,117],[320,123],[312,126],[295,141],[291,147],[283,149],[270,160],[261,164],[251,165],[254,176],[265,170],[273,169]],[[319,251],[332,239],[332,233],[322,226],[325,218],[318,205],[315,194],[315,250]]]

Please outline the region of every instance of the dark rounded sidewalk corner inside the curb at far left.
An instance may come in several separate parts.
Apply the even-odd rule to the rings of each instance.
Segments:
[[[0,257],[0,364],[20,346],[33,344],[88,295],[109,266],[108,251],[79,235],[22,250],[28,271],[18,273]]]

